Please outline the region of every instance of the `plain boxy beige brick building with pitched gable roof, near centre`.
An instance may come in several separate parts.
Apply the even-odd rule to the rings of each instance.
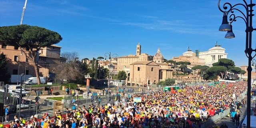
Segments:
[[[147,86],[159,81],[159,65],[154,61],[138,61],[130,64],[128,83]]]

